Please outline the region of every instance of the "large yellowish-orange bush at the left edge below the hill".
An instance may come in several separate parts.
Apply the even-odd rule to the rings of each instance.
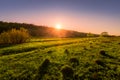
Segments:
[[[0,44],[24,43],[30,38],[28,31],[24,28],[12,29],[0,34]]]

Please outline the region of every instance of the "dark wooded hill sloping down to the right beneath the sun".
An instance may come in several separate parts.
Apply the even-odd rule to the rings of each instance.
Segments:
[[[0,33],[8,31],[12,28],[25,28],[34,37],[86,37],[87,33],[71,31],[71,30],[57,30],[52,27],[37,26],[26,23],[12,23],[0,21]],[[94,34],[95,35],[95,34]],[[98,36],[98,35],[95,35]]]

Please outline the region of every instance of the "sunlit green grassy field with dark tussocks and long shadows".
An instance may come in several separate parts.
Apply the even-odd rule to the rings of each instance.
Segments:
[[[34,38],[0,45],[0,80],[120,80],[120,38]]]

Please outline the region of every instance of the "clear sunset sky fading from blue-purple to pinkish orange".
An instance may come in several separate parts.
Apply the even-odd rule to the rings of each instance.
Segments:
[[[0,0],[0,21],[120,35],[120,0]]]

